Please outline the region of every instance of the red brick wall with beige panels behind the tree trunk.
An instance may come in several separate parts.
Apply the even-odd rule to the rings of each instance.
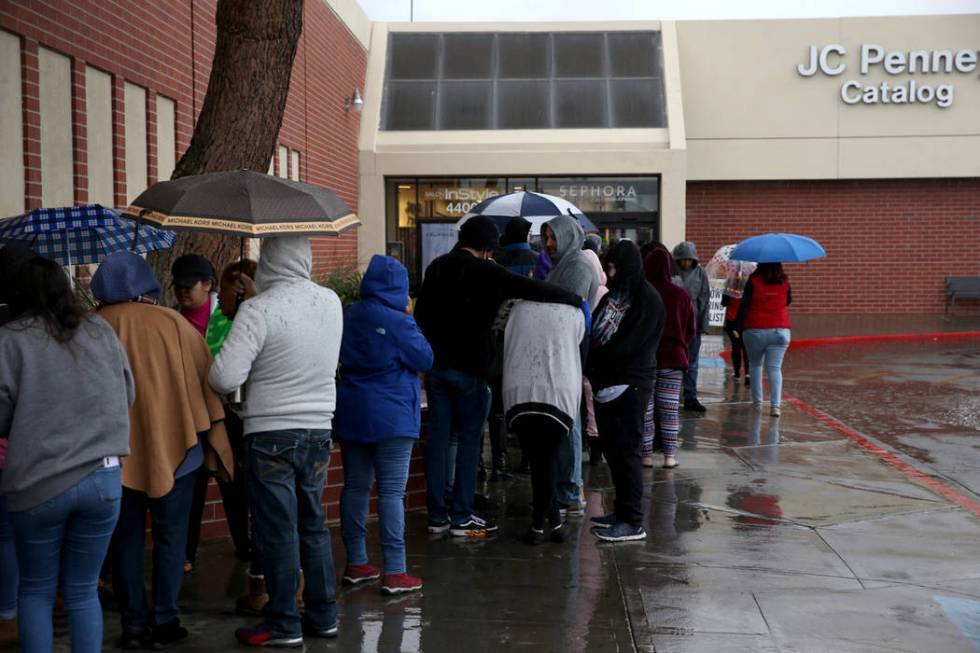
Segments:
[[[123,83],[147,89],[147,171],[157,178],[155,94],[176,102],[176,158],[187,149],[207,92],[214,55],[216,0],[49,0],[0,3],[0,29],[22,39],[25,200],[40,206],[37,49],[72,58],[75,198],[87,198],[85,65],[113,76],[115,196],[126,199]],[[279,142],[300,152],[300,180],[328,186],[357,210],[357,132],[360,114],[343,110],[354,87],[364,87],[367,54],[323,0],[307,0]],[[256,107],[262,110],[262,107]],[[291,165],[291,164],[290,164]],[[291,172],[291,171],[290,171]],[[318,275],[353,261],[357,234],[314,245]]]

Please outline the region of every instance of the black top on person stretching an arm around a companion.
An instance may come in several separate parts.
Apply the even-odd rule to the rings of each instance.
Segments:
[[[574,293],[513,274],[465,250],[432,261],[419,288],[415,321],[432,345],[433,367],[487,377],[494,351],[490,327],[506,299],[582,304]]]

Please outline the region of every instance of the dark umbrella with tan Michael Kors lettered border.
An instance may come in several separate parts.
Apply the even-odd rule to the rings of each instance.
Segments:
[[[241,238],[339,236],[360,224],[328,188],[249,170],[159,182],[122,215],[173,231]]]

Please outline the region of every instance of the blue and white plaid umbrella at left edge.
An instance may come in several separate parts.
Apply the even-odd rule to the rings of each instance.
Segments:
[[[173,247],[175,234],[147,225],[136,227],[115,209],[100,204],[35,209],[0,220],[0,243],[17,243],[62,265],[98,263],[109,254],[142,254]],[[133,240],[136,238],[136,247]]]

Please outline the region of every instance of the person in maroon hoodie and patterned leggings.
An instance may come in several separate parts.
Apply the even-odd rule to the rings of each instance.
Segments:
[[[680,425],[681,383],[688,367],[688,351],[694,338],[694,304],[671,280],[672,259],[666,248],[654,248],[643,262],[647,281],[664,300],[664,333],[657,347],[657,380],[647,406],[643,429],[643,466],[653,467],[654,435],[659,434],[664,469],[677,467],[677,431]]]

